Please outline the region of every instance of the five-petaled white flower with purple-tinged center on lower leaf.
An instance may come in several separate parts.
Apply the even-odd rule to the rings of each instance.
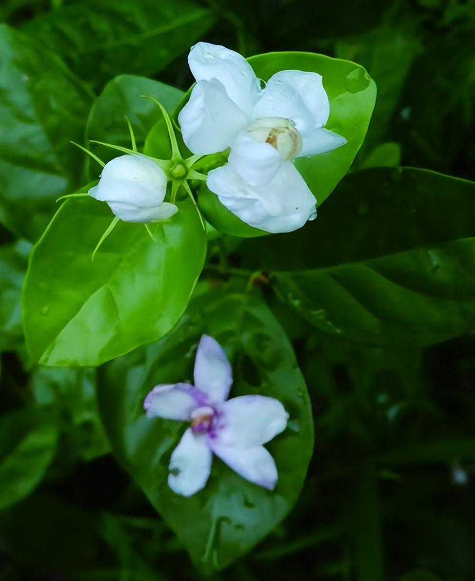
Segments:
[[[212,454],[242,478],[273,490],[274,459],[262,444],[284,431],[288,414],[273,397],[241,396],[227,400],[233,376],[219,344],[203,335],[195,360],[195,386],[158,385],[145,398],[149,418],[188,421],[173,451],[168,484],[177,494],[191,496],[208,482]]]

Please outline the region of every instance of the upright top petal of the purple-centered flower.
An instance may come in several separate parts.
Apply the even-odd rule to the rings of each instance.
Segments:
[[[205,393],[209,401],[224,401],[233,383],[233,370],[226,353],[215,339],[203,335],[195,360],[195,386]]]

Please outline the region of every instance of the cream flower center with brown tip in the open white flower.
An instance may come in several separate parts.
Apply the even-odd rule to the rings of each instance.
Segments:
[[[248,125],[246,131],[256,141],[272,145],[285,161],[293,160],[302,150],[302,137],[290,119],[263,117]]]

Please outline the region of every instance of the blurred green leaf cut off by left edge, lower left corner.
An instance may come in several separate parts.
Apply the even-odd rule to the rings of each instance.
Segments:
[[[56,451],[58,426],[34,408],[12,411],[0,424],[0,510],[28,496]]]

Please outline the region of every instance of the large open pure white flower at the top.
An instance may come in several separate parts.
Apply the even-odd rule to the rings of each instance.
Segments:
[[[324,129],[330,102],[322,76],[280,71],[266,87],[243,56],[198,42],[188,55],[197,84],[178,116],[197,155],[231,148],[228,163],[208,174],[208,188],[242,221],[290,232],[316,217],[316,200],[292,163],[347,141]]]

